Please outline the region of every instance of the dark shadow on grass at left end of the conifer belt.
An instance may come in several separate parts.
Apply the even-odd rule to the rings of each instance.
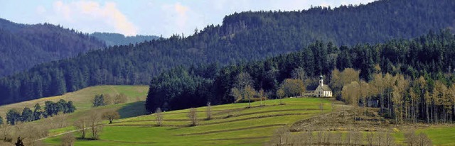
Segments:
[[[130,118],[146,114],[145,101],[128,103],[119,109],[120,118]]]

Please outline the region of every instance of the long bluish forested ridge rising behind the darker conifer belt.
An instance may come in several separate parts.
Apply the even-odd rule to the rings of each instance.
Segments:
[[[63,94],[97,84],[149,84],[151,77],[179,65],[259,60],[301,50],[316,40],[334,42],[333,46],[350,46],[412,38],[429,30],[451,30],[454,7],[455,1],[451,0],[397,0],[336,9],[234,13],[224,18],[223,26],[207,26],[188,37],[173,35],[138,45],[95,50],[0,79],[0,92],[6,93],[1,94],[0,103]],[[392,48],[395,49],[404,51]],[[344,54],[348,52],[343,48],[340,50],[339,55],[347,56],[343,59],[355,57]],[[328,63],[321,58],[314,61]],[[337,65],[344,68],[350,64]],[[310,75],[319,72],[326,74],[319,69]]]

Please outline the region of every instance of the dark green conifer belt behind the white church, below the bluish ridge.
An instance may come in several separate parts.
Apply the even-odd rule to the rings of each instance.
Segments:
[[[336,47],[333,43],[317,41],[298,52],[262,61],[225,67],[219,64],[193,66],[188,69],[176,67],[151,80],[146,108],[149,111],[158,107],[173,110],[204,106],[208,101],[213,104],[235,102],[238,97],[232,93],[235,91],[232,89],[245,87],[244,82],[239,82],[240,76],[249,78],[246,80],[247,86],[251,88],[249,90],[256,93],[263,91],[265,96],[272,99],[279,98],[277,91],[283,87],[282,83],[286,79],[299,79],[303,85],[294,84],[315,89],[318,86],[319,74],[326,77],[326,83],[331,83],[333,94],[338,99],[342,99],[342,90],[346,84],[358,82],[359,79],[365,83],[373,82],[378,80],[375,79],[377,74],[404,74],[408,79],[422,76],[426,77],[427,81],[439,80],[445,86],[451,86],[455,82],[455,77],[451,74],[454,72],[452,67],[455,67],[455,58],[451,57],[455,55],[454,47],[455,35],[441,31],[430,32],[412,40],[392,40],[376,45],[359,44],[352,47]],[[341,74],[345,74],[343,78],[339,77]],[[427,88],[433,89],[433,86]],[[392,90],[387,91],[391,93]],[[391,97],[385,96],[385,101],[388,102]],[[381,103],[381,106],[388,105],[383,101]]]

